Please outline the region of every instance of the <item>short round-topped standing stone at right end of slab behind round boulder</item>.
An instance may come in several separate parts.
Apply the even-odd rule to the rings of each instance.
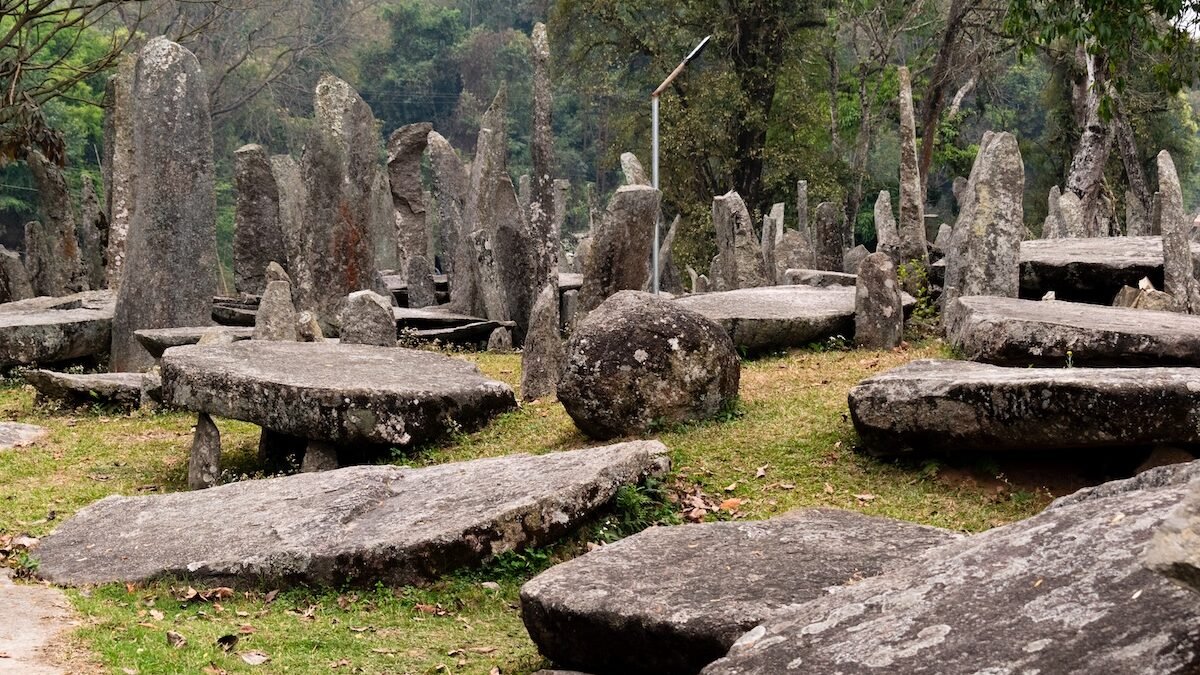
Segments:
[[[854,345],[892,350],[904,338],[904,300],[895,262],[887,253],[866,256],[854,292]]]

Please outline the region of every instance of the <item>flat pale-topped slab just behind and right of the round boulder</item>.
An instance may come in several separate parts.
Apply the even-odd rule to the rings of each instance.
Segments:
[[[739,350],[751,353],[854,336],[852,286],[763,286],[674,301],[720,323]],[[906,306],[914,303],[905,295]]]

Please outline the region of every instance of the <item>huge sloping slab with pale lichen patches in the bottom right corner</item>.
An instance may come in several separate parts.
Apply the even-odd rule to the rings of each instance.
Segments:
[[[1195,464],[1066,497],[781,610],[703,673],[1195,673],[1200,603],[1141,561]]]

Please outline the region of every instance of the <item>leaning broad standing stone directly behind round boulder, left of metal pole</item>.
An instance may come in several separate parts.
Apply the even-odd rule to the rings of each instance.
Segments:
[[[581,312],[592,311],[617,291],[646,285],[660,198],[658,190],[646,185],[623,185],[613,193],[584,261]]]

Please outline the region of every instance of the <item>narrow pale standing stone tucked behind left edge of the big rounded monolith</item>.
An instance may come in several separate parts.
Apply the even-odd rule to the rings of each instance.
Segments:
[[[104,213],[108,214],[108,245],[104,253],[108,287],[121,283],[125,241],[133,221],[138,173],[133,144],[133,77],[136,58],[124,58],[108,80],[104,118]],[[211,151],[210,151],[211,154]]]

